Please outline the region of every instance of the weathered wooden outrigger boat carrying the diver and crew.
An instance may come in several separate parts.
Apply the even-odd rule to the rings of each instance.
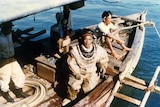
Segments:
[[[19,2],[21,4],[20,7],[26,3],[25,1]],[[31,7],[33,7],[30,8],[32,11],[22,9],[23,11],[17,11],[16,15],[13,16],[12,14],[6,14],[6,16],[0,17],[0,22],[19,20],[20,18],[49,10],[57,6],[63,6],[67,4],[72,4],[73,6],[74,2],[79,3],[81,2],[81,0],[59,0],[58,2],[47,1],[47,3],[46,1],[42,0],[40,2],[41,6],[36,5],[36,2],[34,3],[33,1],[29,0],[29,3],[32,4]],[[83,3],[84,1],[82,2],[81,6],[83,6]],[[37,6],[40,6],[40,9],[37,8]],[[2,12],[0,11],[0,13]],[[146,21],[146,15],[146,10],[128,16],[113,15],[112,21],[117,26],[119,26],[120,37],[125,41],[126,46],[133,49],[129,52],[123,52],[121,47],[117,45],[115,41],[113,41],[112,44],[116,52],[123,55],[121,60],[117,60],[110,55],[110,50],[108,49],[107,45],[104,44],[104,36],[102,35],[102,33],[98,31],[96,32],[97,24],[86,27],[95,31],[95,42],[105,48],[108,53],[109,63],[106,72],[107,75],[106,79],[102,80],[95,89],[68,103],[67,105],[65,105],[66,107],[109,107],[115,97],[138,105],[140,107],[144,107],[150,92],[160,92],[160,87],[156,86],[156,79],[160,71],[160,67],[157,68],[149,85],[146,81],[132,76],[132,72],[135,70],[141,56],[145,37],[145,26],[153,25],[153,22]],[[62,58],[64,58],[63,56],[67,55],[67,52],[64,50],[67,50],[69,46],[78,43],[78,37],[76,37],[76,34],[78,34],[81,29],[82,28],[75,30],[75,35],[73,36],[73,38],[67,38],[63,41],[63,46],[61,48],[62,52],[60,52]],[[21,33],[28,34],[28,32],[32,30],[33,28],[26,29],[24,31],[21,31]],[[16,102],[13,104],[7,103],[2,97],[0,97],[0,106],[62,107],[63,99],[53,89],[53,85],[57,83],[55,78],[58,66],[56,63],[60,61],[60,68],[65,70],[65,67],[63,68],[63,64],[65,63],[65,61],[61,60],[61,57],[56,56],[57,52],[55,52],[55,56],[48,56],[48,53],[44,54],[51,50],[50,38],[39,40],[34,43],[29,41],[31,38],[44,33],[45,31],[42,30],[40,32],[37,32],[36,34],[30,34],[31,36],[26,37],[24,40],[20,38],[20,41],[23,40],[22,42],[20,42],[21,46],[15,48],[17,52],[17,55],[15,57],[19,60],[21,65],[24,66],[23,69],[26,74],[26,83],[23,90],[30,94],[30,96],[25,99],[18,99],[15,98],[15,96],[10,92],[12,97],[15,98]],[[43,49],[41,49],[40,47]],[[26,50],[30,51],[27,52]],[[110,77],[113,77],[114,79],[112,80],[110,79]],[[143,99],[138,100],[120,93],[120,89],[124,85],[128,85],[145,91]]]

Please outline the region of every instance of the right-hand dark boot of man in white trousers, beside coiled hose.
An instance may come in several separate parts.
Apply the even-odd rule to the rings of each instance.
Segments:
[[[17,98],[26,98],[29,95],[22,91],[22,88],[19,89],[11,89],[11,91],[16,95]]]

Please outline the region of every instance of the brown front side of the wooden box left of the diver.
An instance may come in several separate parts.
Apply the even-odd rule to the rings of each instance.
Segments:
[[[37,62],[37,75],[53,83],[55,81],[55,69],[43,63]]]

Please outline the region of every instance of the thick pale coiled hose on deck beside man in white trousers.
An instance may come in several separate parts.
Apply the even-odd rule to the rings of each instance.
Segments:
[[[35,107],[46,96],[47,89],[39,81],[33,79],[26,79],[25,86],[34,88],[34,94],[12,104],[4,104],[3,107]]]

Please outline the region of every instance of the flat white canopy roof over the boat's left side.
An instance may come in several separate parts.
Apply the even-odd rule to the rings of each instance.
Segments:
[[[0,23],[81,0],[0,0]]]

